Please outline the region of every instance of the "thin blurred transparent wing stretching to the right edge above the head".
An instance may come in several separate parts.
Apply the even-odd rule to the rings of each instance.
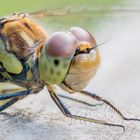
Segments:
[[[45,17],[45,16],[64,16],[68,14],[81,14],[89,12],[140,12],[140,8],[133,7],[129,5],[115,5],[115,6],[105,6],[105,5],[96,5],[96,6],[69,6],[63,9],[57,10],[41,10],[37,12],[30,13],[32,17]]]

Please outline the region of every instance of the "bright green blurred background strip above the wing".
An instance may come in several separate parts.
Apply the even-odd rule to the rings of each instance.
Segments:
[[[116,0],[4,0],[0,3],[0,16],[14,12],[32,12],[37,10],[57,9],[66,6],[96,6],[96,5],[112,5],[118,3]]]

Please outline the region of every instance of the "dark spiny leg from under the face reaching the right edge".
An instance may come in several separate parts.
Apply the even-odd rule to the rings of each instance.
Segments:
[[[117,112],[121,117],[122,119],[126,120],[126,121],[140,121],[140,119],[135,119],[135,118],[127,118],[125,117],[114,105],[112,105],[109,101],[103,99],[102,97],[96,95],[96,94],[92,94],[88,91],[80,91],[78,92],[80,94],[83,94],[83,95],[86,95],[86,96],[89,96],[97,101],[102,101],[103,103],[107,104],[108,106],[110,106],[115,112]]]

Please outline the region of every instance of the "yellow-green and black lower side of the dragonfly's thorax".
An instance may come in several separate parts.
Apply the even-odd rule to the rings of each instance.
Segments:
[[[14,53],[8,52],[0,40],[0,81],[8,80],[13,83],[30,82],[34,80],[34,63],[32,59],[19,60]]]

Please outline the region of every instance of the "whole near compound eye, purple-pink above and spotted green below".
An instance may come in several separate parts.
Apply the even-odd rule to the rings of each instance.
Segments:
[[[76,39],[65,32],[55,32],[46,41],[38,61],[41,80],[60,84],[76,50]]]

